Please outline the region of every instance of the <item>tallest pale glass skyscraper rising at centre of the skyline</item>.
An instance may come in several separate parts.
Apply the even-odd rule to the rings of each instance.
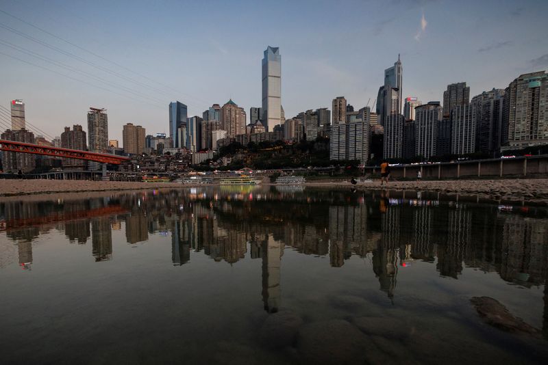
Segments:
[[[279,125],[282,111],[282,56],[278,47],[268,46],[262,59],[262,118],[266,131]],[[244,124],[245,125],[245,124]]]

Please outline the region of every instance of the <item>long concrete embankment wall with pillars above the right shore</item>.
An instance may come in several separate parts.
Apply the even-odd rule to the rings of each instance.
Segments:
[[[431,163],[421,165],[396,165],[390,167],[393,178],[416,178],[421,171],[424,179],[481,178],[504,176],[548,176],[548,156],[516,157],[513,159],[489,159]],[[379,174],[379,167],[366,167],[366,174]]]

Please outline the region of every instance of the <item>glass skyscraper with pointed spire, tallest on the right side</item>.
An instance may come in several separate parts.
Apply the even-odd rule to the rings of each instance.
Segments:
[[[384,85],[379,87],[377,94],[377,115],[381,124],[386,116],[401,113],[402,73],[403,68],[398,55],[394,66],[384,70]]]

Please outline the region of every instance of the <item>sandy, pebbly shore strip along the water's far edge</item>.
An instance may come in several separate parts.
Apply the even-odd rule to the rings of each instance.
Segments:
[[[197,185],[204,187],[206,185]],[[351,187],[349,181],[319,180],[306,183],[316,187]],[[92,191],[125,191],[139,189],[189,187],[180,183],[129,183],[119,181],[88,180],[0,180],[0,196],[42,193],[89,193]],[[359,183],[357,189],[390,189],[396,191],[434,191],[446,194],[482,195],[495,200],[519,200],[548,204],[548,179],[508,180],[442,180],[390,182],[381,187],[379,180]]]

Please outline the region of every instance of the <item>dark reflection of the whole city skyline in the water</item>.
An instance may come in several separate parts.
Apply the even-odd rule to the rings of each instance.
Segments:
[[[441,202],[438,195],[304,191],[276,187],[141,191],[53,201],[0,204],[0,225],[9,242],[1,267],[33,262],[33,241],[56,229],[71,244],[86,245],[100,262],[114,258],[112,232],[125,229],[129,245],[150,235],[171,239],[171,265],[206,254],[234,265],[248,256],[262,260],[264,309],[282,300],[284,249],[329,258],[343,267],[356,255],[373,262],[379,289],[397,295],[401,268],[432,262],[439,275],[458,279],[464,267],[496,271],[502,280],[538,286],[548,271],[548,219],[543,208],[508,213],[497,206]],[[171,237],[167,237],[171,236]],[[16,245],[16,254],[9,245]],[[8,248],[6,248],[8,247]],[[15,257],[16,256],[16,257]]]

